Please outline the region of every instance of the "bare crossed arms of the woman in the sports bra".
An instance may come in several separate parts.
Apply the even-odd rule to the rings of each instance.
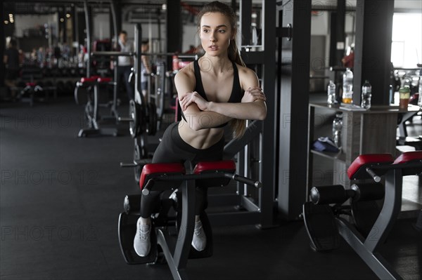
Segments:
[[[209,102],[204,100],[199,93],[193,91],[195,81],[183,71],[179,72],[174,83],[179,93],[179,102],[188,125],[193,130],[215,128],[225,124],[231,119],[258,119],[263,120],[267,116],[265,95],[258,86],[258,79],[254,72],[247,74],[248,82],[243,88],[248,88],[241,102]]]

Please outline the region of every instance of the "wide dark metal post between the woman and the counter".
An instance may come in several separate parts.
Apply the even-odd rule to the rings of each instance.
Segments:
[[[282,26],[293,27],[293,38],[283,39],[281,55],[279,192],[281,217],[298,219],[307,192],[307,133],[311,1],[283,1]],[[267,133],[267,129],[264,129]],[[266,135],[267,137],[267,135]]]

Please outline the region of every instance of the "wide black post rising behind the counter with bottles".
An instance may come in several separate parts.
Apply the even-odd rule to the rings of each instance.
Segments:
[[[353,102],[357,105],[366,79],[372,86],[372,105],[390,103],[393,13],[394,1],[357,0],[353,73]]]

